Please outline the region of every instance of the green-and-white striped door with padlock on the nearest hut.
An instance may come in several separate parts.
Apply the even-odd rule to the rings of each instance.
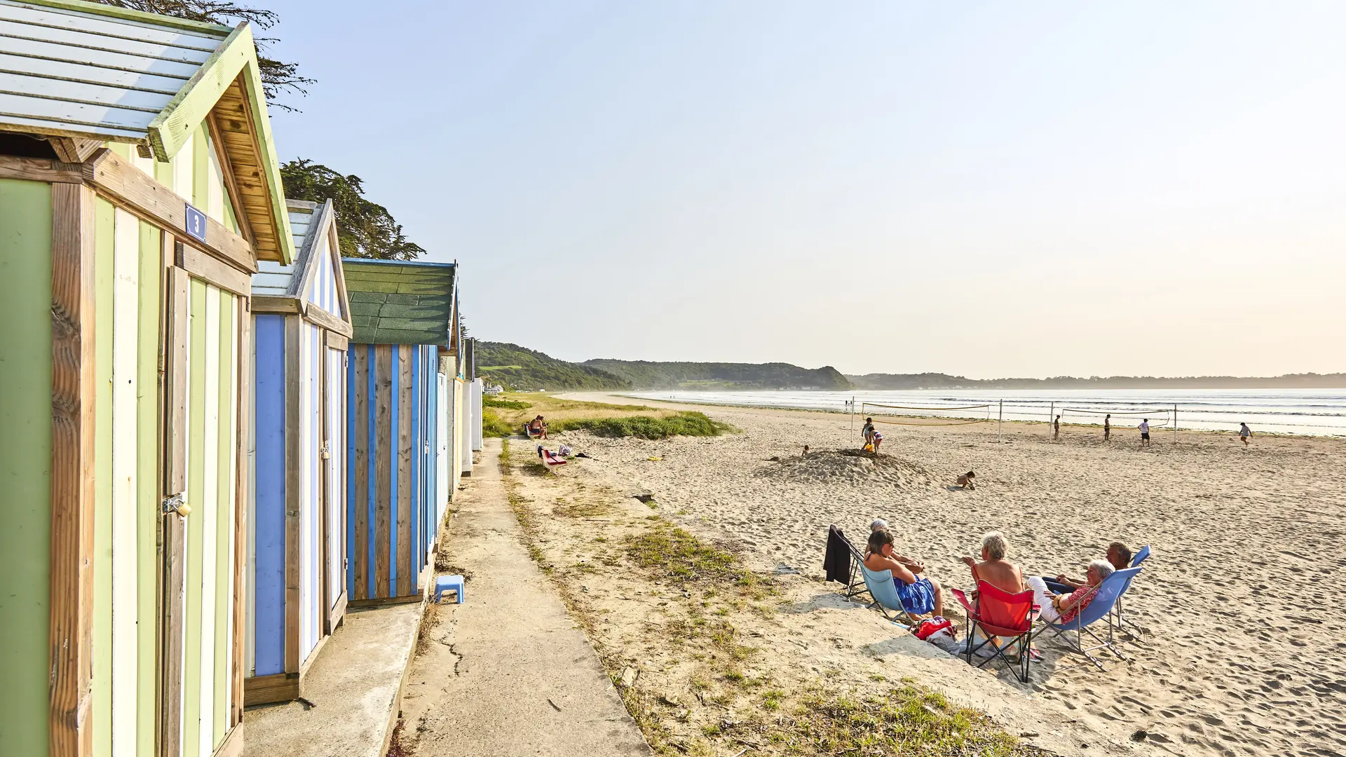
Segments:
[[[210,757],[237,735],[242,714],[248,276],[170,244],[157,754]]]

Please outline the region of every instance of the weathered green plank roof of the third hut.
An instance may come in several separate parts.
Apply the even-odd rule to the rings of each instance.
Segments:
[[[351,341],[370,345],[454,346],[458,265],[347,257]]]

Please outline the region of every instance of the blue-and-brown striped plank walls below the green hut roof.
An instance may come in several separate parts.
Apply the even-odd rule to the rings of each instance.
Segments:
[[[423,589],[440,516],[439,385],[433,345],[349,350],[347,594],[353,606],[413,601]]]

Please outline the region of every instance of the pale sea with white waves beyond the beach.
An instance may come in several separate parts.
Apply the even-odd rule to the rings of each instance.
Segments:
[[[1346,436],[1343,389],[910,389],[820,392],[631,392],[626,396],[744,407],[829,409],[872,416],[964,422],[1038,420],[1102,426],[1112,414],[1121,431],[1149,419],[1154,431],[1187,428],[1253,434]],[[929,423],[929,420],[926,420]]]

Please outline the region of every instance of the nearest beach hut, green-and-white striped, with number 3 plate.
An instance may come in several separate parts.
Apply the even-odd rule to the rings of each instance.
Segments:
[[[250,275],[292,259],[252,30],[0,28],[0,754],[237,754]]]

